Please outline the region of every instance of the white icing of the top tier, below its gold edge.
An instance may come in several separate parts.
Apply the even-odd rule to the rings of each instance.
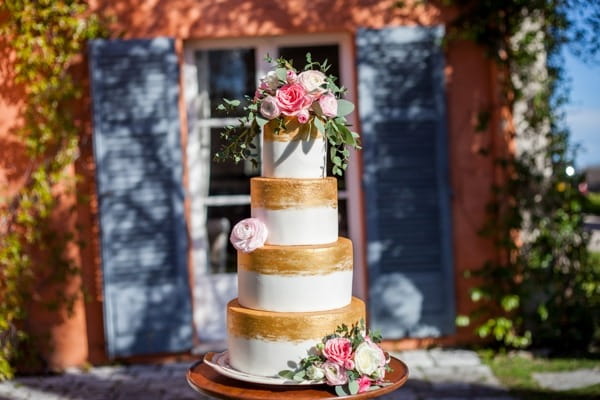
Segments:
[[[267,178],[323,178],[327,150],[323,138],[290,142],[264,140],[262,176]]]

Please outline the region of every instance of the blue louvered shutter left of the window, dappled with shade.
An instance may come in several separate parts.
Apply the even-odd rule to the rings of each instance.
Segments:
[[[108,354],[192,347],[174,42],[94,40],[90,70]]]

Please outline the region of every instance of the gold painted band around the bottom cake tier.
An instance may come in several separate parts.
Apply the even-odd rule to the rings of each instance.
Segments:
[[[237,299],[227,304],[228,334],[246,339],[318,341],[339,325],[350,326],[361,319],[366,320],[365,303],[356,297],[346,307],[307,313],[253,310],[240,306]]]

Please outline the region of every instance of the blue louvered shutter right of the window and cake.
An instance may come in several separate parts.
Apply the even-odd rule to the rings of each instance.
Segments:
[[[370,323],[454,332],[442,27],[357,34]]]

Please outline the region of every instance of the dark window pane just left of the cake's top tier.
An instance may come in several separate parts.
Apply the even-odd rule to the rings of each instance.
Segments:
[[[209,196],[226,194],[249,194],[250,177],[260,174],[260,164],[254,168],[250,161],[236,164],[231,160],[225,162],[214,161],[214,156],[221,149],[222,140],[219,136],[221,128],[210,130],[210,183]],[[258,138],[255,141],[256,149],[260,153]]]

